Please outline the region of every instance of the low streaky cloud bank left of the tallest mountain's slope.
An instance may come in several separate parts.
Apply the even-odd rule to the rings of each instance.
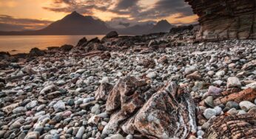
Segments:
[[[30,18],[13,18],[12,16],[0,15],[1,31],[38,30],[46,27],[53,21],[38,20]]]

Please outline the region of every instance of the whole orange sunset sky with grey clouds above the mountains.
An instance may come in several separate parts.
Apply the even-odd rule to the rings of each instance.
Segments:
[[[38,30],[77,11],[111,27],[166,19],[195,24],[198,16],[184,0],[0,0],[0,30]]]

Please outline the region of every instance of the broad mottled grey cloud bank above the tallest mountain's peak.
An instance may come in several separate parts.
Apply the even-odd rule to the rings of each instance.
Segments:
[[[74,10],[78,13],[92,15],[93,10],[112,12],[120,16],[129,16],[135,20],[161,19],[179,13],[181,17],[193,15],[191,7],[183,0],[158,0],[152,8],[146,9],[139,5],[140,0],[54,0],[51,7],[44,9],[55,12],[70,13]],[[61,7],[61,4],[66,6]],[[113,8],[110,8],[110,7]]]

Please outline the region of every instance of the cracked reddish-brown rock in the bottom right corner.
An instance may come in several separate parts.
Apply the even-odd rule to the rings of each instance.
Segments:
[[[256,115],[220,116],[210,121],[206,138],[255,138]]]

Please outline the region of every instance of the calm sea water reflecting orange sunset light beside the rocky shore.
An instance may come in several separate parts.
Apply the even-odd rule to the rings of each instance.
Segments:
[[[61,47],[63,44],[76,45],[83,37],[87,40],[101,39],[104,35],[0,35],[0,52],[16,54],[30,52],[33,47],[46,50],[47,47]]]

